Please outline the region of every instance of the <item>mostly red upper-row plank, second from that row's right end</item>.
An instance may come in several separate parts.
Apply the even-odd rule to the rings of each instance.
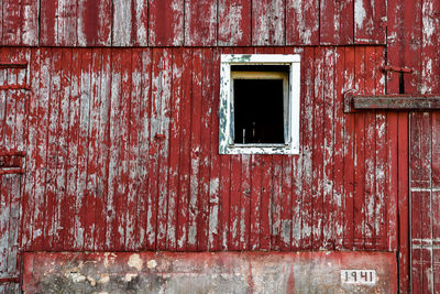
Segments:
[[[320,44],[345,45],[353,43],[353,0],[320,1]]]

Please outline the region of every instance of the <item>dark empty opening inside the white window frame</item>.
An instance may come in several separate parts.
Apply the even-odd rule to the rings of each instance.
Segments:
[[[283,79],[233,80],[234,143],[284,143]]]

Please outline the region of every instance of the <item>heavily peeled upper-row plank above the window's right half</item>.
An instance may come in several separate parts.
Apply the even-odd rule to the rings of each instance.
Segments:
[[[252,45],[284,45],[285,0],[252,1]]]

